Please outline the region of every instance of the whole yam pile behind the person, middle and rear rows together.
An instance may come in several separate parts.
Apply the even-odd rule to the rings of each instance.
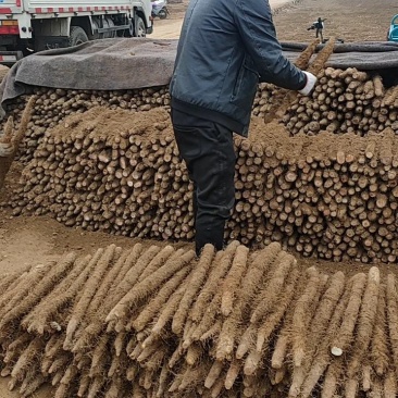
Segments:
[[[312,96],[260,86],[249,138],[234,136],[236,202],[225,239],[252,248],[279,241],[333,261],[395,262],[398,86],[387,88],[376,72],[324,69],[332,39],[310,63],[316,49],[314,41],[296,60],[319,77]],[[132,237],[194,237],[192,185],[166,86],[41,87],[33,98],[23,117],[30,122],[18,128],[25,138],[15,157],[26,166],[11,201],[15,215],[50,214]],[[10,104],[15,130],[25,102]]]

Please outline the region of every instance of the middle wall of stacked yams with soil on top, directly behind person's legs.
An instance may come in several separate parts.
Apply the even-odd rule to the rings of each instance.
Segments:
[[[289,137],[253,117],[235,136],[236,203],[226,239],[279,241],[303,256],[395,262],[398,137],[390,128]],[[191,189],[164,109],[103,108],[47,129],[12,200],[14,214],[50,214],[69,226],[191,239]]]

